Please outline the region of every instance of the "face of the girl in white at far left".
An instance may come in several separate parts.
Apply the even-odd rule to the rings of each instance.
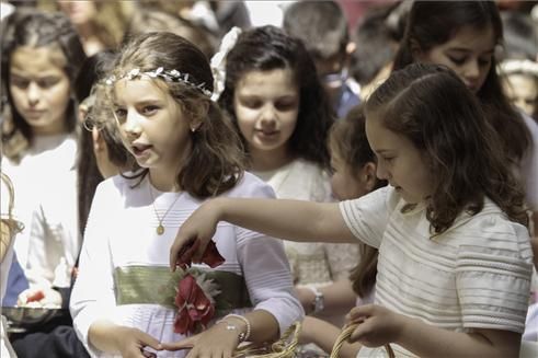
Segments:
[[[34,134],[66,130],[70,83],[64,55],[53,47],[18,47],[11,54],[10,93],[13,104]]]

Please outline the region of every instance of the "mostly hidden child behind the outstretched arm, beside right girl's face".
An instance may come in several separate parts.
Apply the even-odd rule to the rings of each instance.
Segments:
[[[371,151],[365,130],[364,108],[362,105],[352,108],[344,119],[337,120],[329,135],[331,150],[333,195],[339,200],[359,198],[379,187],[386,186],[387,181],[376,177],[376,157]],[[353,268],[348,290],[342,295],[350,295],[357,299],[357,305],[374,302],[374,286],[377,274],[377,249],[359,243],[359,263]],[[345,284],[342,281],[342,285]],[[306,316],[302,323],[300,339],[304,343],[314,343],[325,353],[331,349],[341,332],[341,327],[327,321]],[[344,345],[340,355],[355,357],[360,345]]]

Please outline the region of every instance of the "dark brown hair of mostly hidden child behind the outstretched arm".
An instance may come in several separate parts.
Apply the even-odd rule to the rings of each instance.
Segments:
[[[365,123],[364,106],[358,105],[352,108],[343,119],[334,123],[329,136],[330,148],[336,151],[355,177],[358,176],[365,164],[376,162],[376,155],[366,138]],[[373,190],[386,185],[387,181],[376,180]],[[350,280],[355,293],[364,298],[376,285],[378,251],[364,243],[358,244],[358,250],[360,261],[352,268]]]

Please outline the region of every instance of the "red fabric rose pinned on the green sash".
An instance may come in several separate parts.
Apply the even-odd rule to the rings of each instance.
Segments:
[[[180,334],[205,330],[215,314],[215,305],[191,274],[185,274],[178,285],[175,305],[174,332]]]

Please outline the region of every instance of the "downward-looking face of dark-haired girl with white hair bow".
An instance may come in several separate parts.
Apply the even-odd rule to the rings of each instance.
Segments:
[[[251,152],[286,151],[297,125],[299,90],[289,69],[250,71],[236,85],[233,107]]]

